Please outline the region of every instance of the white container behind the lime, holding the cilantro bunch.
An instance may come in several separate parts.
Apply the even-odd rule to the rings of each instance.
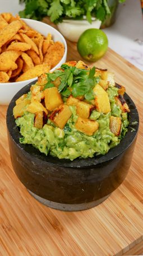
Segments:
[[[59,23],[58,29],[68,40],[77,42],[81,34],[89,28],[100,28],[102,21],[92,18],[90,24],[87,20],[63,20]]]

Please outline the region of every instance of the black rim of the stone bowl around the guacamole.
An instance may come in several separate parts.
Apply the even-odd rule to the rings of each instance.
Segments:
[[[34,83],[37,80],[34,81]],[[44,161],[47,162],[49,165],[56,165],[68,168],[76,168],[76,169],[86,169],[86,168],[94,168],[97,165],[104,164],[104,162],[108,162],[113,160],[113,158],[122,155],[124,151],[134,142],[137,137],[137,132],[139,129],[139,113],[137,111],[135,103],[133,103],[130,96],[128,96],[125,92],[124,98],[127,101],[127,104],[130,108],[130,112],[128,113],[129,118],[129,125],[128,131],[121,142],[114,148],[109,149],[108,153],[105,155],[98,155],[92,158],[76,158],[75,160],[67,160],[67,159],[59,159],[58,157],[52,157],[50,155],[46,156],[44,153],[40,153],[40,151],[33,147],[31,144],[21,144],[19,142],[20,132],[16,126],[15,118],[13,117],[13,107],[15,106],[15,101],[18,99],[22,94],[27,93],[30,90],[31,85],[33,82],[29,83],[28,85],[22,87],[19,90],[13,99],[11,100],[10,104],[8,105],[7,109],[7,130],[11,136],[13,142],[19,147],[19,150],[26,155],[26,157],[33,157],[35,161]],[[136,124],[133,122],[137,122]]]

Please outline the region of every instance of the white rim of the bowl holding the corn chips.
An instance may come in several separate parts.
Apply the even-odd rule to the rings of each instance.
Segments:
[[[27,20],[27,21],[30,21],[31,23],[40,23],[40,24],[43,24],[45,26],[48,26],[50,28],[52,28],[54,31],[56,31],[56,33],[59,35],[59,37],[61,37],[63,39],[63,44],[64,44],[64,54],[62,56],[62,59],[59,61],[59,63],[62,63],[63,62],[63,59],[65,58],[65,56],[67,56],[67,42],[66,42],[66,39],[63,37],[63,35],[56,29],[56,28],[53,28],[52,26],[50,26],[49,24],[47,23],[44,23],[44,22],[41,22],[41,21],[38,21],[38,20],[33,20],[33,19],[24,19],[24,18],[21,18],[21,20]],[[32,27],[31,27],[32,28]],[[40,32],[39,32],[40,33]],[[59,63],[53,67],[52,69],[50,69],[50,72],[53,72],[56,68],[58,68],[59,66]],[[62,65],[62,64],[61,64]],[[24,81],[19,81],[19,82],[10,82],[10,83],[0,83],[1,86],[4,86],[4,85],[20,85],[21,82],[26,82],[27,84],[34,81],[37,77],[34,77],[34,78],[30,78],[29,80],[24,80]]]

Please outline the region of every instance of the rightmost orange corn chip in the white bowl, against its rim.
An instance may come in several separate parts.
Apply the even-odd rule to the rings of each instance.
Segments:
[[[64,46],[61,42],[56,42],[54,45],[50,45],[47,53],[44,56],[43,63],[51,65],[51,68],[55,67],[62,59],[64,54]]]

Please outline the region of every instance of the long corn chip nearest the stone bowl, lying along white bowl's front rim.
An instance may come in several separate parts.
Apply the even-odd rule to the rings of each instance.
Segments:
[[[16,82],[29,80],[31,78],[36,78],[43,73],[48,73],[49,70],[50,70],[50,67],[47,64],[36,65],[34,68],[31,68],[27,70],[25,73],[21,74],[21,76],[17,78]]]

